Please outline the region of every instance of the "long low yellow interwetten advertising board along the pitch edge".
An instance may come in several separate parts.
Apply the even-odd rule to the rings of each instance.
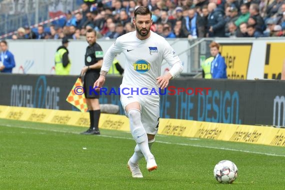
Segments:
[[[0,105],[0,118],[89,126],[89,114],[79,111]],[[99,128],[129,131],[128,118],[102,113]],[[160,118],[158,134],[285,146],[285,129],[266,126]]]

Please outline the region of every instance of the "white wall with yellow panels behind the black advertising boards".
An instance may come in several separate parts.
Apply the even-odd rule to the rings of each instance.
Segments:
[[[189,43],[186,39],[167,39],[183,62],[183,72],[189,70]],[[221,54],[225,57],[228,78],[254,79],[277,78],[280,76],[282,62],[285,58],[285,38],[217,38],[221,43]],[[104,52],[114,40],[97,41]],[[9,40],[9,49],[15,56],[16,67],[13,73],[54,74],[54,53],[61,44],[60,40]],[[84,65],[85,40],[74,40],[69,43],[69,56],[72,61],[71,73],[78,75]],[[124,66],[124,55],[117,56]],[[161,73],[169,65],[162,63]]]

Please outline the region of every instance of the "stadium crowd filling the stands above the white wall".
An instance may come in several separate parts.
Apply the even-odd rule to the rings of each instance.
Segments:
[[[137,5],[149,7],[151,30],[166,38],[285,36],[285,0],[112,0],[82,3],[82,11],[67,11],[61,23],[20,27],[12,39],[84,39],[88,28],[97,38],[116,38],[135,30]]]

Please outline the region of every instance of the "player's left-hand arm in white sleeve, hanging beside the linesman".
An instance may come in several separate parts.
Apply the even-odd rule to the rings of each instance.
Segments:
[[[108,48],[106,54],[104,55],[103,58],[103,63],[100,71],[100,76],[99,78],[95,81],[94,86],[95,89],[99,89],[102,87],[105,83],[105,77],[108,73],[108,70],[110,69],[113,59],[116,54],[121,53],[121,45],[120,41],[117,38],[116,41]]]

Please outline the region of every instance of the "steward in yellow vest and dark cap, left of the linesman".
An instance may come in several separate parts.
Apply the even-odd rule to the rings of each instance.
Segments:
[[[68,39],[66,37],[62,38],[62,45],[56,50],[54,56],[55,62],[55,74],[58,75],[68,75],[70,72],[71,61],[68,57]]]

